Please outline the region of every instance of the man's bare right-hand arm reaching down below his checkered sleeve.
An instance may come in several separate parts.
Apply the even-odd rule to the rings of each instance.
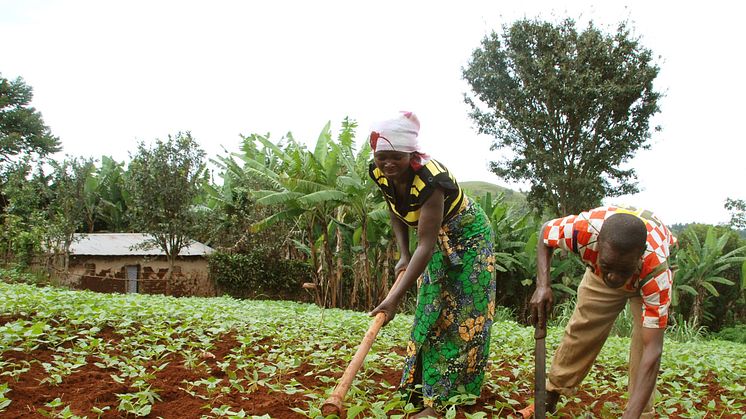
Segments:
[[[663,354],[663,331],[665,329],[642,328],[642,359],[637,367],[635,393],[631,395],[624,411],[625,419],[637,419],[642,414],[658,379],[658,370]]]

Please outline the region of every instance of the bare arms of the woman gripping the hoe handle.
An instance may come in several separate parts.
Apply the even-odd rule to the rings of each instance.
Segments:
[[[391,291],[389,291],[389,294],[383,302],[370,312],[371,316],[375,316],[379,312],[386,313],[386,322],[384,324],[394,318],[394,315],[396,315],[396,309],[402,298],[404,298],[404,295],[407,293],[407,290],[416,283],[417,278],[422,275],[427,264],[430,262],[433,250],[435,249],[435,244],[438,240],[438,232],[443,223],[443,205],[443,191],[436,188],[433,194],[420,208],[420,220],[417,223],[417,248],[412,254],[409,266],[404,272],[401,280],[391,288]],[[396,227],[393,225],[392,227],[396,233]],[[399,242],[398,237],[397,242]],[[402,249],[400,248],[399,250],[401,251]]]

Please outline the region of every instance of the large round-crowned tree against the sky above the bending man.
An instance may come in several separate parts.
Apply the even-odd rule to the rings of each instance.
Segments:
[[[638,191],[622,165],[649,147],[658,70],[625,24],[607,35],[593,23],[578,32],[572,19],[520,20],[474,50],[465,100],[492,149],[512,151],[492,171],[528,181],[536,209],[577,213]]]

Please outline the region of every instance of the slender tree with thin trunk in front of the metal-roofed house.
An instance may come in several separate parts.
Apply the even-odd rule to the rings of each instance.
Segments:
[[[152,237],[168,256],[169,279],[176,257],[196,231],[194,202],[205,182],[205,152],[189,132],[137,146],[127,172],[132,227]],[[166,282],[166,293],[169,282]]]

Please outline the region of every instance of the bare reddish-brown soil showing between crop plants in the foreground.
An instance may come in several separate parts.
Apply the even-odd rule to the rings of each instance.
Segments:
[[[3,318],[2,320],[4,323],[13,319]],[[111,329],[104,329],[98,335],[112,343],[116,343],[121,338]],[[234,336],[223,336],[215,342],[215,346],[200,360],[201,362],[196,367],[188,368],[183,359],[176,359],[176,355],[173,354],[157,363],[153,362],[152,365],[147,365],[150,368],[168,362],[165,367],[156,371],[147,379],[147,383],[152,389],[156,390],[160,397],[160,400],[155,400],[152,403],[152,410],[147,417],[200,418],[203,415],[216,417],[217,414],[211,413],[211,409],[225,405],[230,406],[233,412],[243,409],[248,417],[269,414],[272,418],[278,419],[303,418],[304,415],[291,409],[307,410],[309,402],[319,405],[320,399],[313,400],[308,395],[323,395],[324,391],[333,386],[336,379],[341,375],[340,372],[332,373],[329,370],[321,375],[315,375],[313,373],[314,366],[301,364],[290,371],[283,372],[281,377],[264,377],[267,380],[274,379],[276,382],[294,383],[300,391],[293,394],[272,391],[267,386],[260,384],[251,386],[246,384],[247,381],[244,381],[243,392],[227,386],[223,386],[226,389],[225,391],[215,391],[212,394],[206,394],[203,389],[199,391],[190,390],[187,385],[188,382],[210,377],[226,379],[225,364],[223,364],[223,367],[219,364],[226,361],[226,356],[231,353],[233,348],[239,346],[240,344],[236,342]],[[395,349],[395,351],[399,354],[403,353],[403,349],[400,348]],[[120,403],[117,395],[132,393],[134,391],[131,387],[132,381],[118,382],[115,380],[113,376],[116,376],[117,371],[97,366],[96,363],[99,363],[100,359],[97,359],[94,355],[89,355],[86,358],[85,365],[75,369],[73,373],[63,376],[60,383],[49,382],[49,375],[44,370],[42,363],[50,363],[56,353],[52,348],[38,347],[28,353],[8,350],[0,354],[0,359],[3,361],[11,361],[17,365],[23,364],[29,367],[28,371],[17,374],[15,377],[0,376],[0,383],[7,383],[9,388],[5,396],[12,400],[5,411],[0,412],[0,417],[50,417],[59,413],[62,409],[62,407],[48,406],[55,399],[60,399],[62,402],[60,406],[68,406],[71,413],[81,417],[134,417],[134,415],[130,414],[128,416],[125,412],[117,410]],[[116,355],[126,357],[126,354],[117,353]],[[235,360],[228,359],[226,362],[235,362]],[[338,367],[337,370],[341,370],[345,365],[338,365]],[[509,380],[517,380],[516,377],[511,375],[507,366],[503,368],[502,365],[494,364],[491,371],[493,378],[501,376]],[[370,375],[368,379],[376,383],[385,381],[396,384],[400,377],[400,370],[382,367],[380,372]],[[707,400],[715,400],[716,403],[721,403],[720,395],[725,393],[725,390],[718,385],[716,377],[708,376],[705,382],[709,393],[708,397],[703,398],[703,401],[696,405],[698,409],[702,410],[705,409]],[[514,403],[518,402],[514,405],[514,408],[520,409],[531,398],[530,387],[531,383],[526,383],[523,390],[511,394],[500,394],[499,391],[493,391],[497,388],[496,386],[486,385],[477,403],[461,407],[457,417],[464,418],[464,412],[476,413],[480,411],[485,412],[487,417],[514,417],[514,410],[511,408],[496,412],[485,408],[485,406],[495,406],[510,399]],[[382,395],[384,392],[383,388],[377,387],[371,389],[369,394],[376,396]],[[586,417],[589,413],[593,417],[605,417],[608,415],[603,410],[604,403],[610,402],[618,406],[623,406],[625,403],[616,394],[607,393],[597,397],[582,390],[578,392],[577,398],[580,399],[580,403],[568,403],[563,409],[562,417]],[[589,412],[587,406],[594,402],[594,407]],[[724,415],[721,417],[736,418],[738,416]]]

